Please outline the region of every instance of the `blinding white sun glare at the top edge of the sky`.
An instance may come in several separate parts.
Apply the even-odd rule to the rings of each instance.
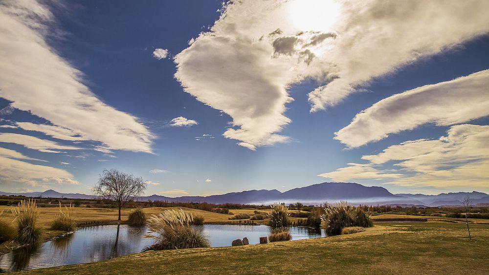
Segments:
[[[334,0],[291,0],[287,11],[297,30],[329,32],[338,19],[339,5]]]

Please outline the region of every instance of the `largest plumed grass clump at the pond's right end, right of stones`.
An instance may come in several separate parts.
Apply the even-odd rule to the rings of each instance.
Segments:
[[[328,204],[324,207],[324,214],[321,215],[321,225],[326,229],[328,235],[339,235],[345,227],[353,225],[354,220],[350,213],[354,208],[341,201],[338,204]]]

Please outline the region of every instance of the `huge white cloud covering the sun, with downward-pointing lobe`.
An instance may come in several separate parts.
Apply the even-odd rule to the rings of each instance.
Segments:
[[[178,81],[232,117],[250,149],[289,141],[287,89],[318,81],[311,111],[370,80],[489,31],[488,1],[235,1],[175,57]],[[467,20],[467,18],[470,18]],[[326,85],[324,85],[326,84]]]

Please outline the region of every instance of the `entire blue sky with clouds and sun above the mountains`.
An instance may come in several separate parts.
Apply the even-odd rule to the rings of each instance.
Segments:
[[[0,2],[0,190],[489,192],[489,1]]]

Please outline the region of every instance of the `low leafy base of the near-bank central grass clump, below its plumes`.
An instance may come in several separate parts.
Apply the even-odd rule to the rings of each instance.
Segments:
[[[210,247],[210,242],[200,230],[190,226],[167,225],[160,232],[156,244],[148,247],[148,250],[167,250]]]

